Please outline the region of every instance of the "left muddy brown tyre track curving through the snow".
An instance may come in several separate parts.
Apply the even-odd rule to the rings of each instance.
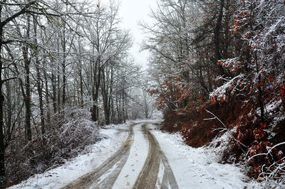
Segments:
[[[66,185],[64,188],[110,188],[113,183],[115,183],[116,178],[120,173],[120,170],[125,165],[130,153],[130,147],[133,144],[133,126],[130,126],[130,133],[124,144],[119,148],[119,150],[103,164],[98,167],[95,171],[81,176],[73,183]],[[114,168],[115,167],[115,168]],[[100,178],[105,174],[112,171],[105,179],[100,180]]]

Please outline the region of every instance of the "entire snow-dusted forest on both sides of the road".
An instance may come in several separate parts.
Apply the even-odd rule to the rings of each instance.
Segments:
[[[163,112],[192,147],[229,134],[221,163],[285,183],[285,1],[159,0],[147,72],[118,1],[0,1],[0,187],[101,140],[98,127]],[[155,99],[155,100],[154,100]]]

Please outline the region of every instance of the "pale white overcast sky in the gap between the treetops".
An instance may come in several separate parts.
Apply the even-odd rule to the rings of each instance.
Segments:
[[[122,18],[123,28],[130,29],[134,40],[130,53],[144,69],[147,68],[149,53],[146,50],[139,52],[144,35],[140,26],[138,26],[138,22],[151,21],[148,16],[150,9],[156,9],[156,0],[120,0],[120,17]]]

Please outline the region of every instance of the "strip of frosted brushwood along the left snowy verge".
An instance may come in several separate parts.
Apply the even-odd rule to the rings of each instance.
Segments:
[[[66,109],[65,116],[53,117],[43,139],[33,139],[16,151],[16,141],[6,154],[7,178],[18,183],[25,178],[54,168],[73,158],[90,144],[100,140],[98,126],[90,120],[88,109]]]

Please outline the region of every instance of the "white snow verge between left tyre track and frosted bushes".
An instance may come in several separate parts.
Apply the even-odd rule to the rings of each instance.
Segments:
[[[113,155],[120,148],[128,136],[128,128],[130,123],[121,125],[109,125],[104,129],[100,129],[100,134],[105,136],[102,141],[97,144],[88,146],[86,154],[66,161],[63,166],[46,171],[42,174],[33,175],[28,180],[14,185],[12,188],[62,188],[63,186],[76,180],[81,175],[93,171],[100,166],[103,161]],[[125,132],[118,132],[117,129],[125,129]]]

